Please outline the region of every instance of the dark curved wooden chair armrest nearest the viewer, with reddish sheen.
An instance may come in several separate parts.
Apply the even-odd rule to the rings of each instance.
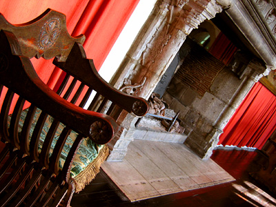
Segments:
[[[1,84],[97,144],[106,144],[112,139],[118,128],[114,119],[79,108],[48,88],[37,76],[30,59],[20,56],[19,44],[12,32],[1,30],[0,43]]]

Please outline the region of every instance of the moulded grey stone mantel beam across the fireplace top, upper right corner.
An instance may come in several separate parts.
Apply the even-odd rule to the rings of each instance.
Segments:
[[[235,23],[252,49],[266,63],[276,69],[276,12],[269,0],[232,0],[225,13]]]

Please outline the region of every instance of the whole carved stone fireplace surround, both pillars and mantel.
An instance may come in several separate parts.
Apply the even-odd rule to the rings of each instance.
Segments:
[[[205,140],[202,143],[207,144],[204,146],[195,144],[197,154],[208,159],[217,145],[225,124],[255,81],[276,68],[275,7],[274,1],[270,0],[157,0],[155,8],[132,43],[111,83],[116,88],[122,88],[125,79],[133,84],[139,84],[146,79],[137,95],[147,99],[188,34],[201,22],[212,19],[217,13],[226,9],[224,11],[226,16],[233,22],[239,35],[248,41],[247,46],[253,54],[264,61],[266,68],[250,63],[241,77],[244,79],[241,88],[217,117],[210,134],[202,138]],[[123,159],[128,143],[131,141],[130,123],[135,122],[135,117],[128,115],[126,120],[128,121],[123,121],[122,124],[125,129],[124,135],[113,148],[114,155],[117,150],[121,157],[112,155],[111,161],[112,157],[117,161]]]

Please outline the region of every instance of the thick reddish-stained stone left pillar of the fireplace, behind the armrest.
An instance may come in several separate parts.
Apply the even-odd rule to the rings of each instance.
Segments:
[[[187,35],[228,6],[229,0],[158,0],[110,83],[122,88],[125,79],[132,83],[146,80],[137,95],[148,99]],[[124,137],[131,137],[127,133],[131,132],[131,122],[122,125],[126,133],[118,142],[125,150]],[[112,153],[122,151],[116,146]]]

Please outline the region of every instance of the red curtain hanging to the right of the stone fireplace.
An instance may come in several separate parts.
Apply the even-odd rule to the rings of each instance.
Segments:
[[[223,146],[262,149],[276,126],[276,97],[262,83],[255,83],[219,137]]]

